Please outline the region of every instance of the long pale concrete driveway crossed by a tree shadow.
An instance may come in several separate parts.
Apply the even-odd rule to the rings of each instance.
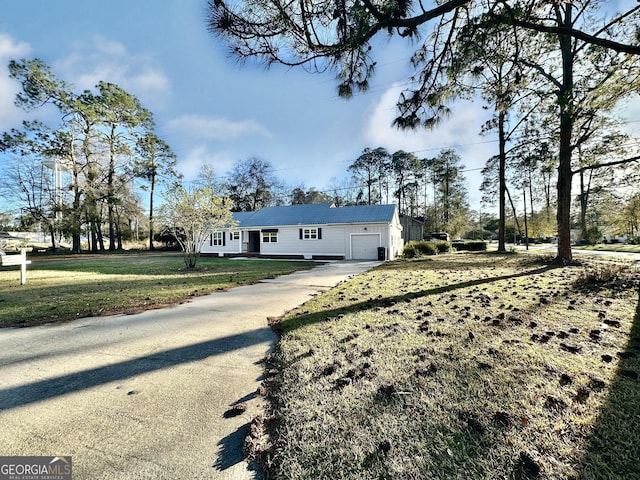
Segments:
[[[0,455],[71,455],[74,480],[260,478],[241,449],[277,340],[267,317],[378,263],[328,263],[135,315],[0,330]],[[247,411],[224,418],[239,402]]]

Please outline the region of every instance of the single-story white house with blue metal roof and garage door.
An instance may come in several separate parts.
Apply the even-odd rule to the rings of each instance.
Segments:
[[[395,205],[288,205],[233,218],[237,225],[213,232],[202,255],[393,260],[403,247]]]

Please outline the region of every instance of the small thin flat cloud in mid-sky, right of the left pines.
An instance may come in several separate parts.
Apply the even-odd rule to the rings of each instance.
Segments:
[[[203,115],[182,115],[167,124],[180,135],[206,140],[234,140],[240,137],[271,138],[271,133],[255,120],[233,121]]]

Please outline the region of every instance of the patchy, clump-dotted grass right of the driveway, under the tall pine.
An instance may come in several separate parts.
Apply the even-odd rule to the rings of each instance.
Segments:
[[[640,478],[637,273],[594,268],[453,254],[339,285],[277,326],[247,449],[283,479]]]

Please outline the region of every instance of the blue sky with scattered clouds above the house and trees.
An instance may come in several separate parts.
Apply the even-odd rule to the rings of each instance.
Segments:
[[[410,45],[385,43],[370,91],[343,100],[331,72],[238,65],[207,31],[206,4],[3,0],[0,132],[19,127],[25,118],[13,106],[19,86],[8,78],[6,65],[38,57],[78,89],[104,80],[136,95],[154,113],[157,133],[177,154],[187,180],[202,164],[222,176],[235,162],[257,156],[289,185],[323,190],[348,177],[348,165],[365,147],[404,149],[420,157],[456,147],[477,208],[479,169],[497,149],[479,136],[487,115],[480,103],[456,106],[435,131],[391,127],[410,73]]]

